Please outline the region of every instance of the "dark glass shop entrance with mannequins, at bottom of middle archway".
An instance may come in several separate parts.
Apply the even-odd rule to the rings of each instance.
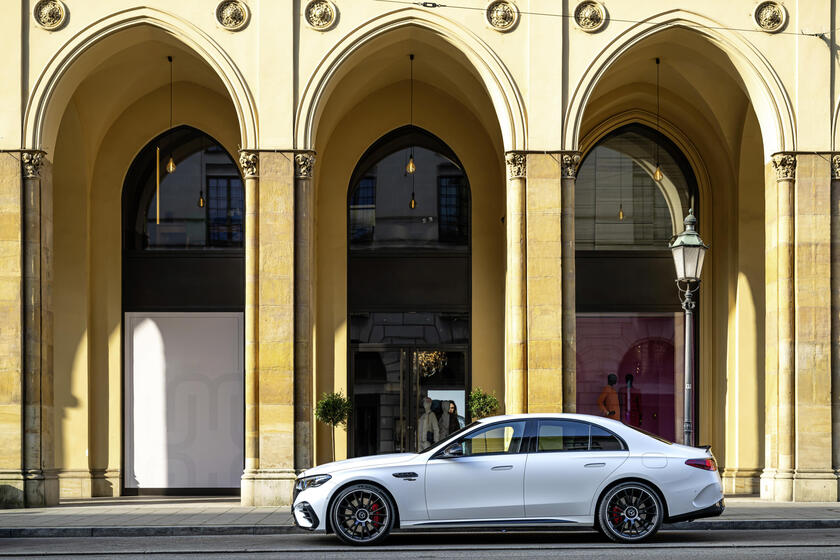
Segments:
[[[353,457],[422,451],[466,421],[465,349],[358,345],[351,368]]]

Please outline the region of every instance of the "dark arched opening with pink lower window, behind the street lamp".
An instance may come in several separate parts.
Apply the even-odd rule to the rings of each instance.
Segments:
[[[689,208],[699,214],[698,201],[685,156],[643,125],[607,134],[582,161],[575,183],[578,412],[670,440],[679,433],[684,366],[675,348],[682,348],[684,323],[668,242]],[[670,350],[642,359],[650,357],[645,340]],[[635,361],[628,358],[634,353]],[[612,391],[618,409],[605,410],[602,399]]]

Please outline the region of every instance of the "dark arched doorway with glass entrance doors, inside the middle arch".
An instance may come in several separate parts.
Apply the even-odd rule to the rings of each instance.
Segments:
[[[431,133],[399,128],[359,160],[347,199],[351,455],[424,449],[463,425],[470,220],[463,166]]]

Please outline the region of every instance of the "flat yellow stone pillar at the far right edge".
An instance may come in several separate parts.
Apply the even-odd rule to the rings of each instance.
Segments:
[[[797,155],[794,183],[793,500],[836,501],[831,434],[831,166]]]

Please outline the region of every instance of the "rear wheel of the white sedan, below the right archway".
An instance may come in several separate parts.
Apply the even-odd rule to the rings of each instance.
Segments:
[[[656,490],[643,482],[624,482],[604,495],[595,525],[610,540],[638,543],[659,531],[664,515]]]

